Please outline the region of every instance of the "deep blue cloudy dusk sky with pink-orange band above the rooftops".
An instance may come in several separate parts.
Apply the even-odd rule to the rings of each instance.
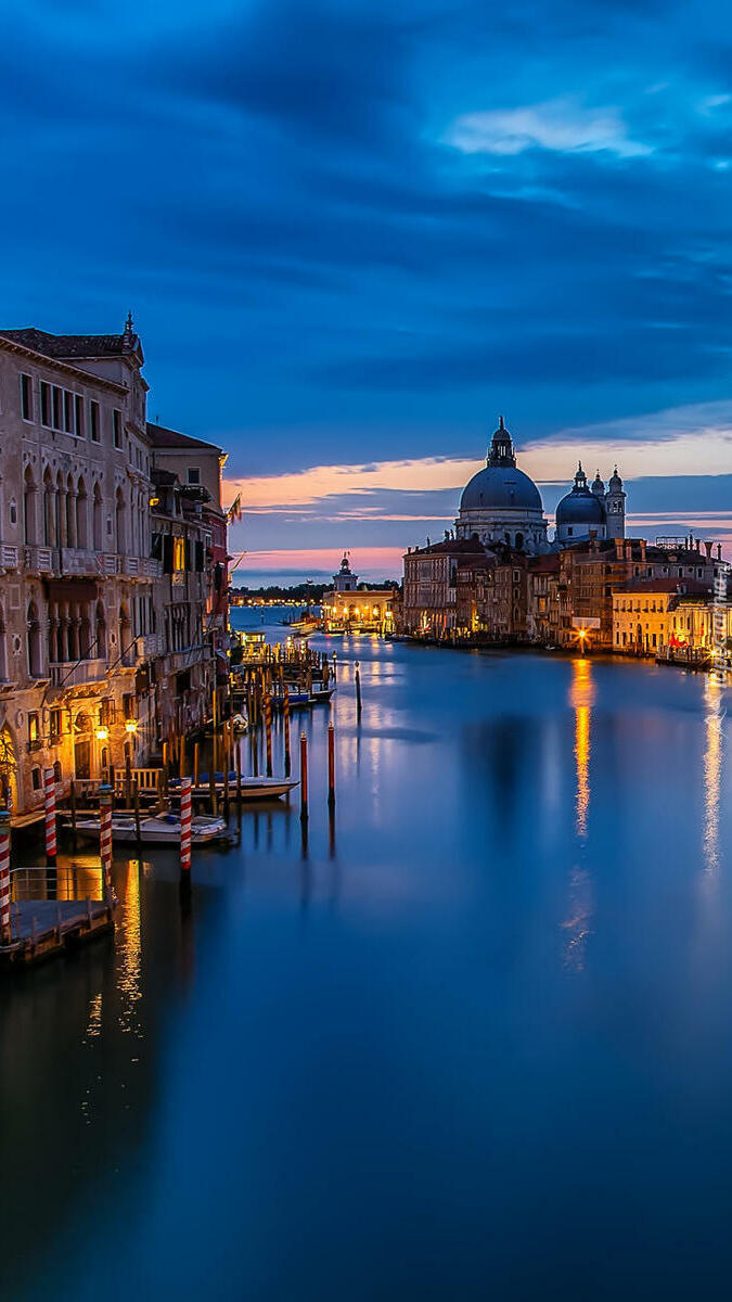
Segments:
[[[589,448],[637,531],[725,536],[722,4],[29,0],[0,87],[4,324],[132,307],[262,564],[439,533],[499,411],[542,484]]]

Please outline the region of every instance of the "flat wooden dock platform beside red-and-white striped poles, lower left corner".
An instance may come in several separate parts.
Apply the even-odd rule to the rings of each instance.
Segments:
[[[12,940],[0,944],[0,969],[40,962],[115,928],[107,900],[21,900],[12,905]]]

